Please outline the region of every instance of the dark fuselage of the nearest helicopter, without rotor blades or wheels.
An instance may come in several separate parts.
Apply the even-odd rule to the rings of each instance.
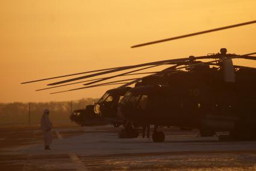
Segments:
[[[241,68],[236,82],[225,82],[222,70],[207,66],[175,72],[163,76],[161,84],[146,82],[129,90],[118,114],[141,124],[214,131],[229,131],[242,122],[252,125],[256,121],[255,73],[256,69]]]

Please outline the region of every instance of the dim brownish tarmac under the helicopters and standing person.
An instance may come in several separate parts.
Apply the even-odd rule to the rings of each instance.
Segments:
[[[52,150],[38,126],[0,127],[0,170],[256,170],[255,141],[219,141],[162,129],[164,143],[118,139],[113,126],[60,126]]]

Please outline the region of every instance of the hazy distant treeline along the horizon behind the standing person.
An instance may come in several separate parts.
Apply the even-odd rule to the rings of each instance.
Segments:
[[[31,124],[40,123],[40,118],[45,108],[49,109],[53,123],[70,123],[71,109],[86,108],[86,105],[94,104],[97,100],[86,98],[72,102],[0,103],[0,124],[23,124],[28,123],[29,120]]]

